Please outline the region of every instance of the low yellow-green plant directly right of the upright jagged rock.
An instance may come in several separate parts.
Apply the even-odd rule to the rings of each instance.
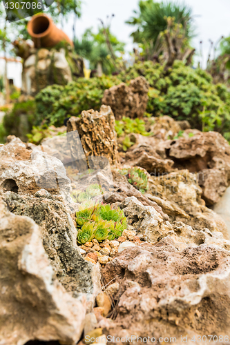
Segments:
[[[129,117],[123,117],[122,120],[115,120],[115,130],[117,137],[129,133],[138,133],[141,135],[149,135],[146,132],[144,120],[142,119],[130,119]]]

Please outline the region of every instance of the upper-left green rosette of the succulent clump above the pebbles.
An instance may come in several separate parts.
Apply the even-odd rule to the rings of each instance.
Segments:
[[[79,206],[76,212],[76,221],[79,226],[83,226],[87,221],[98,220],[99,204],[94,202],[86,202]]]

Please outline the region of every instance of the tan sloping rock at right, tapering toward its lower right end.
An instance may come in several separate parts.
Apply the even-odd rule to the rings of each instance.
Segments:
[[[157,202],[171,220],[183,221],[196,230],[209,228],[211,232],[221,231],[229,239],[227,226],[222,218],[205,206],[202,189],[195,174],[189,170],[178,170],[151,177],[148,184],[146,197]]]

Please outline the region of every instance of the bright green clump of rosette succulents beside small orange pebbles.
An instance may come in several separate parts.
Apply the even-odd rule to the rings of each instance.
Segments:
[[[127,227],[123,210],[112,209],[111,205],[95,204],[91,201],[79,206],[76,221],[79,227],[77,234],[79,244],[89,242],[93,238],[98,242],[115,239],[121,236]]]

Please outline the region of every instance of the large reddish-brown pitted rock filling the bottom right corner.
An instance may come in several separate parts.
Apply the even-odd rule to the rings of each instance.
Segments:
[[[104,333],[115,337],[229,334],[230,255],[202,244],[178,251],[162,242],[119,253],[104,279],[119,282],[117,317]],[[122,325],[122,326],[120,326]],[[137,342],[133,342],[137,344]],[[114,344],[114,343],[113,343]]]

